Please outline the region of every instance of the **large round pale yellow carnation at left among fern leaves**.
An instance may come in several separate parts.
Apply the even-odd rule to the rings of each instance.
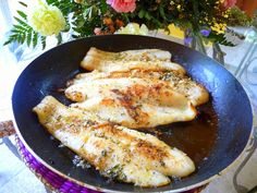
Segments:
[[[62,12],[57,7],[47,5],[41,1],[28,15],[28,22],[42,36],[58,35],[65,27]]]

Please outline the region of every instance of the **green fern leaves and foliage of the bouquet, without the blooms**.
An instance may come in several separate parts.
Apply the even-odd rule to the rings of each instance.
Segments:
[[[120,26],[105,23],[106,19],[120,20],[126,25],[130,22],[145,24],[149,29],[167,28],[171,23],[192,34],[199,34],[201,29],[210,29],[215,24],[248,25],[249,19],[237,8],[225,10],[220,0],[139,0],[136,10],[130,13],[118,13],[106,2],[107,0],[46,0],[47,4],[61,10],[66,27],[63,32],[72,32],[73,38],[94,35],[94,29],[111,32],[110,27]],[[27,4],[20,2],[24,8]],[[46,38],[28,25],[27,15],[17,11],[16,24],[4,45],[17,41],[35,47],[38,43],[46,47]],[[62,33],[63,33],[62,32]],[[62,33],[57,36],[58,44],[62,43]],[[206,41],[234,46],[225,39],[224,34],[212,31]]]

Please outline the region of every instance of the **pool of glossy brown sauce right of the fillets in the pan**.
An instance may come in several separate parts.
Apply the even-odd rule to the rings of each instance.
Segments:
[[[198,107],[193,121],[158,126],[150,131],[171,147],[187,154],[196,166],[208,158],[218,136],[218,119],[211,101]]]

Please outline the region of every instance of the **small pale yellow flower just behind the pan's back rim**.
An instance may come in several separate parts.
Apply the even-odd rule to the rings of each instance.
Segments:
[[[147,35],[148,28],[145,24],[128,23],[125,27],[121,27],[115,34],[134,34],[134,35]]]

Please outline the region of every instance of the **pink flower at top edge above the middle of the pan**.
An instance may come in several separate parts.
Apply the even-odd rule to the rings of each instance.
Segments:
[[[136,9],[136,0],[107,0],[107,4],[120,13],[133,12]]]

